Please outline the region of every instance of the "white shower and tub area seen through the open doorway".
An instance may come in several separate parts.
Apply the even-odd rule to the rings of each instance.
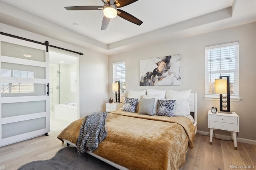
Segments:
[[[76,72],[76,63],[50,66],[50,114],[56,118],[77,119]]]

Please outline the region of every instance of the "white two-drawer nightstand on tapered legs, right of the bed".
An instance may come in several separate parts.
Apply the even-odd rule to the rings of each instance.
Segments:
[[[239,116],[235,112],[228,114],[208,111],[208,128],[210,128],[210,144],[212,144],[214,129],[227,130],[231,132],[234,148],[237,150],[236,132],[239,132]]]

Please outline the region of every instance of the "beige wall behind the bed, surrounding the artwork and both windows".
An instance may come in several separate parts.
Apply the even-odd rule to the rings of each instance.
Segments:
[[[208,110],[219,107],[219,101],[204,100],[205,88],[205,47],[222,43],[239,42],[239,102],[232,101],[230,110],[240,116],[239,138],[256,140],[256,23],[218,30],[207,34],[170,40],[124,53],[110,55],[108,59],[108,91],[112,92],[112,63],[126,62],[126,94],[128,90],[192,89],[198,93],[198,130],[209,132]],[[182,85],[146,87],[139,85],[139,61],[166,55],[181,54]],[[228,132],[216,130],[218,134]]]

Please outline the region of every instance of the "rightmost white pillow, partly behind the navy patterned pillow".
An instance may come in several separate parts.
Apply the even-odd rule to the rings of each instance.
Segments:
[[[175,100],[174,116],[188,116],[190,115],[189,103],[191,99],[162,99],[162,100]]]

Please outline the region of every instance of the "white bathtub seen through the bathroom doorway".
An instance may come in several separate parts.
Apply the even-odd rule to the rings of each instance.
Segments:
[[[54,115],[56,118],[68,121],[70,123],[77,120],[76,103],[54,105]]]

